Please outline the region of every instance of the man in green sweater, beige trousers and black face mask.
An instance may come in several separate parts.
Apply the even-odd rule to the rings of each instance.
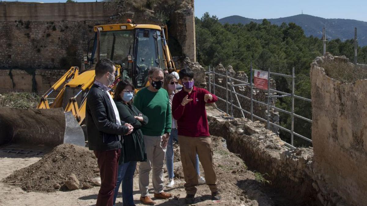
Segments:
[[[149,87],[139,91],[134,99],[135,107],[149,119],[148,124],[141,128],[147,161],[141,162],[139,165],[140,201],[147,205],[155,204],[150,199],[148,192],[149,173],[152,169],[154,197],[168,199],[172,196],[163,191],[163,164],[171,132],[170,100],[166,89],[161,89],[163,78],[162,69],[158,67],[150,68],[148,71]]]

